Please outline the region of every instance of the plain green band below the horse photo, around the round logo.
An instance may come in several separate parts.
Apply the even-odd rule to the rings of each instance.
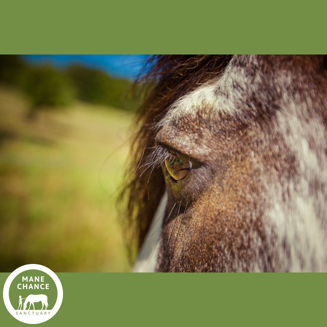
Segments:
[[[318,326],[325,273],[58,273],[63,301],[44,326]],[[3,287],[8,273],[0,274]],[[2,326],[22,326],[2,301]]]

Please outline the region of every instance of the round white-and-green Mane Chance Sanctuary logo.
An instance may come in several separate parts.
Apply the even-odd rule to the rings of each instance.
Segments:
[[[36,264],[14,270],[3,288],[3,300],[9,313],[27,324],[39,324],[52,318],[60,308],[62,294],[58,276]]]

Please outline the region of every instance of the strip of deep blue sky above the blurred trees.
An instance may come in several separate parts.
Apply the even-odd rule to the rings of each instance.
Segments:
[[[66,67],[78,63],[98,68],[113,77],[133,79],[140,72],[148,55],[23,55],[34,64],[51,63],[55,67]]]

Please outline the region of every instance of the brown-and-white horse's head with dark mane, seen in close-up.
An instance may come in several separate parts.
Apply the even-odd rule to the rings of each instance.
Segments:
[[[326,56],[154,56],[138,82],[133,271],[327,271]]]

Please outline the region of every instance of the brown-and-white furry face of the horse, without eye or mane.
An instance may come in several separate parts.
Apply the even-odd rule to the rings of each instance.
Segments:
[[[162,107],[148,146],[202,164],[167,186],[158,270],[327,270],[325,69],[322,57],[234,56]]]

